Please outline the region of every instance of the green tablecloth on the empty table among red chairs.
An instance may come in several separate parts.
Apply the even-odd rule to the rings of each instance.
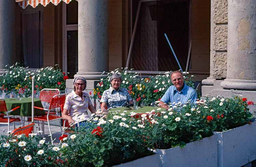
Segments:
[[[8,111],[20,106],[20,108],[11,112],[11,115],[32,116],[32,98],[4,98],[4,100]],[[34,106],[43,108],[41,100],[38,98],[34,98]],[[44,114],[43,110],[34,108],[34,115]]]

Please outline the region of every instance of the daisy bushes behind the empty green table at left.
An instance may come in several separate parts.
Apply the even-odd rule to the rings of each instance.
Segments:
[[[5,73],[0,77],[0,94],[9,94],[12,90],[17,97],[29,97],[32,91],[32,77],[35,81],[34,90],[43,88],[57,88],[65,90],[66,82],[64,72],[56,65],[54,67],[45,67],[38,70],[29,70],[19,66],[18,63],[12,66],[6,65]]]

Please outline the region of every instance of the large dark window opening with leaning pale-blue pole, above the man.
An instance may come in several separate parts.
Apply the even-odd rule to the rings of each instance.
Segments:
[[[137,9],[137,6],[138,3],[133,3],[133,9]],[[135,18],[134,10],[133,14]],[[180,69],[164,33],[185,70],[189,45],[189,0],[162,0],[141,4],[130,68],[142,71]]]

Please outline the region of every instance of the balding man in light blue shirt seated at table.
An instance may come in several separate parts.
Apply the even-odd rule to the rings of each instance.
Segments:
[[[181,71],[174,71],[171,73],[172,86],[168,88],[166,93],[163,95],[159,102],[159,106],[169,109],[168,103],[179,103],[185,104],[186,102],[194,103],[197,101],[196,90],[187,86],[183,80],[183,74]]]

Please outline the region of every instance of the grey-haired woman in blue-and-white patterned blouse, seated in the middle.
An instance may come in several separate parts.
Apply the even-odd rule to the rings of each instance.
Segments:
[[[108,108],[114,108],[114,107],[122,107],[126,103],[130,103],[130,104],[133,103],[132,98],[128,93],[127,89],[120,87],[121,82],[122,82],[122,77],[117,73],[114,73],[110,77],[111,86],[108,90],[105,90],[103,92],[103,95],[100,99],[101,110],[103,112],[107,112],[105,109],[106,106]]]

